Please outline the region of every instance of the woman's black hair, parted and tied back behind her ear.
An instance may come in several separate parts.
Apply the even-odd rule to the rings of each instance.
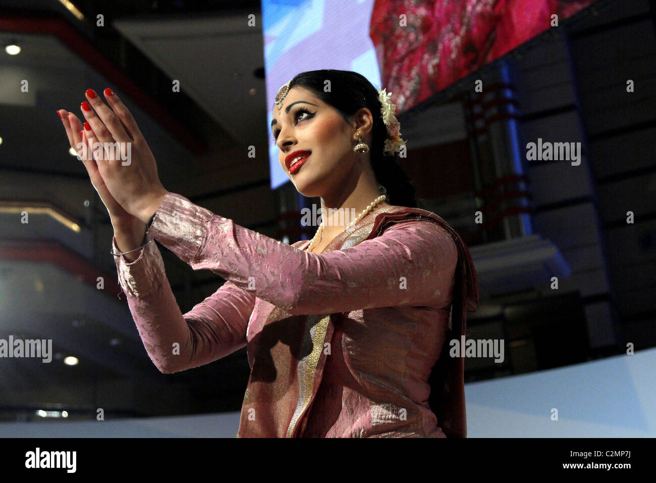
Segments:
[[[327,92],[324,90],[326,81],[330,81]],[[346,122],[360,108],[369,109],[373,114],[369,154],[376,181],[385,187],[388,203],[417,208],[415,187],[398,164],[397,154],[386,155],[382,152],[387,139],[387,127],[380,116],[382,105],[379,93],[371,82],[358,72],[323,69],[300,72],[289,83],[289,89],[295,86],[312,91],[321,101],[333,106]]]

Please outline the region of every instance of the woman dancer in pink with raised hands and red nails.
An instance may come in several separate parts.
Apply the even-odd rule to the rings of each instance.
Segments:
[[[416,207],[395,161],[405,143],[389,96],[342,70],[302,72],[279,89],[281,169],[327,214],[312,240],[291,245],[164,189],[110,89],[109,106],[87,91],[81,133],[74,114],[58,111],[71,145],[84,143],[119,281],[157,368],[183,371],[247,347],[237,437],[466,437],[464,358],[450,357],[448,342],[476,308],[476,271],[453,228]],[[131,143],[129,164],[91,153],[89,141]],[[226,283],[182,314],[153,239]]]

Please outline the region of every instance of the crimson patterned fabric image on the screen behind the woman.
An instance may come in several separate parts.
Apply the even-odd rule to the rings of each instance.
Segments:
[[[595,0],[375,0],[369,35],[397,114]]]

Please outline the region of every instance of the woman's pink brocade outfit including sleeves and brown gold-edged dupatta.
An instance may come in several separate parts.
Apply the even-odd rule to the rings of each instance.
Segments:
[[[238,437],[466,437],[464,358],[449,357],[448,340],[464,334],[478,284],[439,216],[378,205],[315,254],[302,251],[309,241],[284,244],[168,193],[149,233],[227,280],[182,314],[154,242],[134,262],[116,258],[160,371],[247,347]]]

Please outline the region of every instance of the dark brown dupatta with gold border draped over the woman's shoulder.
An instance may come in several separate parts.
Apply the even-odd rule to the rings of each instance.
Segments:
[[[356,225],[337,235],[322,253],[340,250],[375,238],[391,223],[426,219],[444,227],[458,248],[453,302],[447,338],[430,383],[434,390],[429,404],[438,425],[449,438],[466,437],[464,401],[464,357],[449,357],[449,340],[465,333],[466,312],[476,310],[478,281],[471,254],[460,235],[436,214],[420,208],[382,206],[372,210]],[[294,246],[306,248],[309,241]],[[312,405],[323,367],[325,343],[345,313],[291,315],[274,307],[262,330],[253,339],[255,354],[251,377],[244,395],[238,438],[294,438],[302,436],[304,415]]]

